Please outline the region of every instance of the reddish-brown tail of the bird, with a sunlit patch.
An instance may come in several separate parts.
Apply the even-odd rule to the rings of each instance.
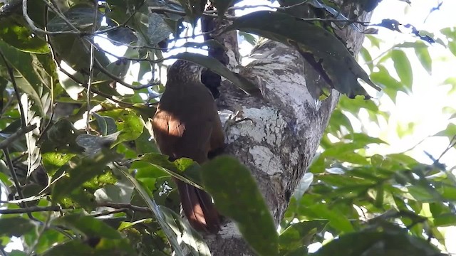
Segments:
[[[217,233],[220,230],[220,217],[208,193],[199,188],[176,180],[182,210],[190,225],[199,231]]]

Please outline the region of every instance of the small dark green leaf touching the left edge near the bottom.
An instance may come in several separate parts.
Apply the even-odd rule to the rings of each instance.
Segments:
[[[2,216],[3,217],[3,216]],[[0,236],[21,237],[25,233],[35,230],[36,225],[32,220],[21,217],[0,218]]]

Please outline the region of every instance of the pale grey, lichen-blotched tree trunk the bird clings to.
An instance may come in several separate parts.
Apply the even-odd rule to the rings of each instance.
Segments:
[[[358,21],[371,17],[360,8],[358,11],[362,14]],[[229,68],[236,70],[236,34],[222,36],[229,48]],[[339,36],[353,53],[361,49],[363,34],[346,28]],[[229,129],[227,153],[252,170],[278,225],[291,193],[316,153],[339,94],[332,90],[325,100],[314,100],[308,88],[323,81],[294,48],[266,40],[254,48],[250,58],[254,60],[240,68],[240,74],[261,88],[263,98],[249,97],[224,81],[218,105],[222,119],[226,119],[227,112],[241,110],[243,117],[253,120],[253,124],[241,122]],[[254,255],[232,222],[206,240],[212,255]]]

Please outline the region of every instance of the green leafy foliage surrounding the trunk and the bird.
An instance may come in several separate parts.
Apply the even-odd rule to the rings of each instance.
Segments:
[[[435,238],[441,248],[445,243],[438,228],[456,225],[456,178],[450,170],[438,159],[426,165],[405,153],[366,154],[366,145],[383,141],[357,131],[348,116],[367,112],[379,123],[388,113],[372,101],[342,97],[321,142],[323,150],[291,197],[276,233],[253,178],[237,160],[224,157],[201,167],[191,159],[169,161],[150,141],[149,118],[162,91],[155,71],[167,59],[163,52],[172,50],[162,46],[170,34],[180,38],[185,24],[196,23],[206,1],[107,0],[99,1],[97,8],[83,0],[59,1],[59,6],[54,1],[28,1],[26,8],[17,2],[0,9],[0,185],[9,194],[0,209],[0,252],[16,236],[25,252],[37,255],[208,255],[201,235],[177,214],[172,177],[212,193],[217,208],[237,222],[260,255],[306,255],[314,242],[326,243],[316,255],[342,253],[341,248],[346,250],[343,255],[375,255],[375,250],[380,255],[434,255],[439,250],[426,240]],[[237,1],[212,2],[219,9],[214,16],[227,18],[225,11]],[[317,11],[334,10],[310,2]],[[296,35],[296,30],[285,28],[291,21],[332,41],[315,43]],[[373,87],[381,85],[393,101],[398,92],[411,92],[413,69],[405,48],[413,48],[423,68],[432,72],[427,45],[417,41],[396,45],[376,61],[363,49],[370,80],[324,25],[258,12],[227,29],[296,46],[350,97],[367,95],[357,78]],[[442,34],[455,54],[454,28]],[[128,49],[125,54],[104,50],[95,40],[100,36]],[[379,43],[378,38],[369,39]],[[329,51],[333,46],[339,50]],[[333,60],[334,54],[341,59]],[[177,53],[168,58],[204,65],[244,92],[258,94],[252,82],[212,57]],[[390,75],[388,61],[397,78]],[[139,71],[133,75],[135,63]],[[351,73],[341,71],[346,69]],[[151,70],[152,79],[147,79]],[[139,82],[126,82],[130,80]],[[447,83],[451,82],[455,85],[454,79]],[[448,137],[454,146],[454,134],[455,127],[449,126],[436,135]],[[325,233],[339,239],[328,241]]]

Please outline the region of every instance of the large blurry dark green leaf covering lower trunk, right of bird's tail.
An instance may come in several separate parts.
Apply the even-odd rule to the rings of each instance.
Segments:
[[[204,188],[222,215],[237,223],[243,238],[259,255],[276,255],[274,220],[249,169],[229,156],[202,165]]]

